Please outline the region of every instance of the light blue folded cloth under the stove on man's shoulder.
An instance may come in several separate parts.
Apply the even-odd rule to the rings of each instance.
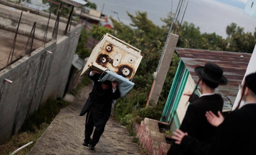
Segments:
[[[122,77],[121,75],[118,75],[112,71],[109,71],[102,78],[102,81],[106,81],[106,80],[118,82],[118,89],[119,89],[121,97],[123,97],[125,94],[127,94],[134,86],[133,82],[129,81],[128,79],[126,79],[126,78]],[[115,101],[113,100],[112,105],[114,105],[114,104],[115,104]]]

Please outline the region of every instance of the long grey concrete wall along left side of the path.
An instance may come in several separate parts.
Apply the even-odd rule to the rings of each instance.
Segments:
[[[49,96],[62,98],[81,29],[82,25],[77,25],[67,36],[48,42],[30,57],[0,71],[0,144],[17,133],[25,118]]]

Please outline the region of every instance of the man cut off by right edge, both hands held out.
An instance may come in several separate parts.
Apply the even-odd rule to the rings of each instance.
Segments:
[[[245,104],[223,118],[220,112],[218,117],[211,111],[206,118],[218,131],[212,143],[205,143],[191,137],[181,130],[174,132],[176,144],[196,155],[255,155],[256,154],[256,73],[245,78],[241,91],[241,100]]]

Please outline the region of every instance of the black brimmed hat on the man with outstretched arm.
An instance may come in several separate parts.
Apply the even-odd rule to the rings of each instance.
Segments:
[[[195,73],[197,73],[200,78],[207,81],[220,85],[227,85],[227,78],[222,75],[223,70],[217,64],[206,63],[204,67],[196,67]]]

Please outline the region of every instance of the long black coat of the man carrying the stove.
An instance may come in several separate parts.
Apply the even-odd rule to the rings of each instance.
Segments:
[[[86,113],[91,113],[94,118],[94,126],[98,126],[102,123],[106,123],[110,117],[112,101],[120,97],[120,92],[118,87],[113,93],[111,82],[109,82],[109,88],[103,90],[101,82],[98,82],[100,74],[94,74],[92,77],[89,76],[94,81],[92,92],[84,104],[84,107],[79,116],[83,116]]]

